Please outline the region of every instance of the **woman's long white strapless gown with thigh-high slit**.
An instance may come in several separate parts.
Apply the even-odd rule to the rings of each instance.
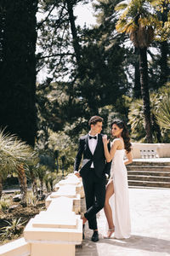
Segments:
[[[127,168],[124,165],[124,154],[125,149],[116,150],[111,162],[111,180],[113,180],[115,193],[110,198],[110,205],[115,224],[114,237],[117,239],[129,238],[131,234]]]

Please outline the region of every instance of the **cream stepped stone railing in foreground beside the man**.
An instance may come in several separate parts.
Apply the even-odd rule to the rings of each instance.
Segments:
[[[68,175],[54,187],[46,199],[46,211],[31,218],[24,238],[0,247],[1,256],[74,256],[76,245],[82,244],[82,181]]]

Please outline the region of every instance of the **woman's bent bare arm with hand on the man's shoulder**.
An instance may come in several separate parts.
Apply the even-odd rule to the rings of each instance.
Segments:
[[[113,159],[113,157],[114,157],[114,155],[116,153],[116,148],[118,147],[120,142],[118,140],[114,141],[112,146],[111,146],[110,152],[109,152],[109,150],[107,148],[108,141],[107,141],[107,136],[106,135],[104,135],[104,137],[103,137],[103,143],[104,143],[104,150],[105,150],[105,159],[109,163]]]

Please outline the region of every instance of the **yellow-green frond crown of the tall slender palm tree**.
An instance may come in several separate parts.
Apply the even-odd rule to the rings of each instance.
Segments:
[[[116,23],[116,30],[128,33],[135,47],[148,47],[153,41],[154,30],[159,30],[161,26],[157,15],[151,12],[150,2],[146,0],[121,2],[116,5],[115,9],[116,11],[122,10]]]

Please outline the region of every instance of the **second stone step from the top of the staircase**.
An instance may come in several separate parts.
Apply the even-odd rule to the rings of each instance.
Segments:
[[[170,166],[126,166],[130,171],[170,172]]]

